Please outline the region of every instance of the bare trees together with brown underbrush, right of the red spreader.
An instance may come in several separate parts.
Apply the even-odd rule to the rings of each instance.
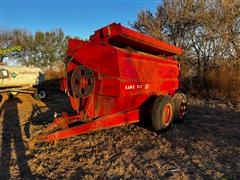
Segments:
[[[130,23],[141,33],[183,48],[186,92],[240,100],[240,1],[163,0]]]

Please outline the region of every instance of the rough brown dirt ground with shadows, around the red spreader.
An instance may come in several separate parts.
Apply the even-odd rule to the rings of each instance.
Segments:
[[[28,140],[72,112],[68,98],[4,95],[0,104],[0,179],[240,179],[240,104],[190,98],[184,123],[155,133],[131,124],[40,143]]]

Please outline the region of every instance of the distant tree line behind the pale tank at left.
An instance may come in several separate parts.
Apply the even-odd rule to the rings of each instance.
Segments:
[[[49,67],[63,61],[67,39],[62,29],[51,32],[37,31],[34,35],[24,29],[3,30],[0,35],[0,63],[17,61],[18,64],[36,67]],[[8,49],[21,47],[8,52]]]

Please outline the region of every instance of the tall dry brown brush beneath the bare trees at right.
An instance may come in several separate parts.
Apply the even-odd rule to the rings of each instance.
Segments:
[[[240,66],[231,63],[218,63],[201,78],[198,74],[187,76],[189,68],[182,68],[188,93],[217,99],[240,100]]]

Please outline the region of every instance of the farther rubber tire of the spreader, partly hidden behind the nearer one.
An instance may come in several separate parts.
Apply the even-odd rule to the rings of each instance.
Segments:
[[[182,122],[184,120],[184,116],[186,114],[183,115],[183,117],[179,117],[179,111],[180,111],[180,105],[181,103],[185,103],[187,105],[187,98],[183,93],[176,93],[173,96],[173,105],[174,105],[174,121],[176,122]]]

